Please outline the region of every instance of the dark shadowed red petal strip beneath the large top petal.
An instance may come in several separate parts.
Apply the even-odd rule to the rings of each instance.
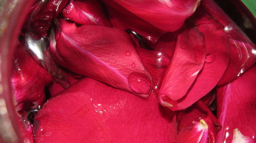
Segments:
[[[132,12],[124,9],[114,1],[104,1],[111,23],[121,30],[133,30],[142,35],[146,41],[155,44],[164,31],[146,22]]]

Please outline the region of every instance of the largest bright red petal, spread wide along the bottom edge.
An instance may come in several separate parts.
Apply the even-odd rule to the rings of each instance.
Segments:
[[[90,78],[49,100],[34,119],[35,142],[176,140],[174,112],[161,107],[154,95],[142,99]]]

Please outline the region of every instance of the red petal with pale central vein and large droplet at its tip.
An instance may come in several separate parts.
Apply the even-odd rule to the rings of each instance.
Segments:
[[[65,20],[59,24],[56,48],[61,66],[141,97],[150,94],[151,76],[124,31],[95,25],[76,27]]]

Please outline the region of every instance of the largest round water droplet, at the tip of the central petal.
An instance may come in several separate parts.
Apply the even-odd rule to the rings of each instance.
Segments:
[[[148,94],[151,90],[151,79],[144,73],[133,72],[128,76],[128,83],[135,93]]]

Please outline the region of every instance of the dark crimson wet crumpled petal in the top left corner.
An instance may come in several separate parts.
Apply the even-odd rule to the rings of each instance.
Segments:
[[[47,36],[52,21],[68,4],[68,0],[38,1],[30,10],[27,22],[24,24],[25,33],[33,38]]]

